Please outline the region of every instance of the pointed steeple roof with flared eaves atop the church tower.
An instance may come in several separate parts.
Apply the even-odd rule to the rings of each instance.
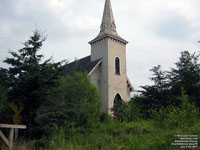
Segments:
[[[96,38],[94,38],[89,43],[92,44],[106,36],[109,36],[111,38],[116,38],[117,40],[120,40],[125,44],[128,43],[126,40],[124,40],[117,34],[110,0],[106,0],[105,2],[102,23],[100,26],[100,33]]]

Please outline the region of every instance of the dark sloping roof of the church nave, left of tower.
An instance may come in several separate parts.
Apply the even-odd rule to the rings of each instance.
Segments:
[[[67,64],[64,67],[63,75],[68,75],[73,72],[87,72],[90,75],[101,62],[101,59],[91,61],[91,55],[86,56]]]

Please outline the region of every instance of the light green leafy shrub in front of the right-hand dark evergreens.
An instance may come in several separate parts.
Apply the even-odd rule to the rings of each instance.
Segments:
[[[152,118],[157,127],[187,129],[198,122],[199,112],[193,104],[189,103],[188,96],[184,94],[183,90],[181,97],[178,97],[178,99],[181,101],[180,107],[168,106],[166,108],[162,107],[158,111],[152,111]]]

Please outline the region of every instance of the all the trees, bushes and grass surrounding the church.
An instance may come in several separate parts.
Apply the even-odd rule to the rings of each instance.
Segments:
[[[143,86],[129,102],[116,102],[111,117],[101,111],[86,73],[64,77],[63,61],[42,60],[38,51],[44,41],[35,31],[24,48],[10,52],[12,58],[4,61],[10,68],[0,69],[0,123],[12,123],[10,101],[25,104],[21,115],[27,130],[14,149],[178,150],[171,145],[175,135],[200,139],[199,55],[182,52],[170,71],[154,67],[154,85]]]

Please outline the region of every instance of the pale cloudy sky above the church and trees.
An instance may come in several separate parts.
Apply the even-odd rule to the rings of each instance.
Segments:
[[[8,51],[39,28],[45,59],[68,62],[90,55],[105,0],[0,0],[0,67]],[[135,90],[152,84],[150,69],[175,67],[180,52],[200,51],[199,0],[111,0],[118,34],[126,39],[127,74]]]

